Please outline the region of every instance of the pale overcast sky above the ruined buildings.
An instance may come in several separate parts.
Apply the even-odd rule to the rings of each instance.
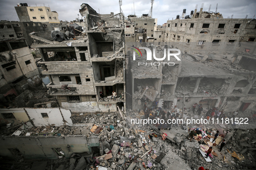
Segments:
[[[144,13],[149,13],[151,7],[150,0],[123,0],[121,6],[125,16],[134,13],[141,16]],[[256,0],[155,0],[153,4],[153,18],[158,19],[158,25],[162,25],[168,19],[176,18],[177,15],[181,16],[182,10],[187,9],[187,15],[190,14],[191,10],[195,9],[198,4],[198,10],[201,8],[202,2],[204,3],[204,11],[208,11],[211,4],[211,11],[216,10],[218,3],[217,12],[222,13],[224,18],[232,16],[233,18],[245,18],[248,15],[248,19],[253,18],[256,14]],[[88,3],[97,12],[102,14],[108,14],[110,12],[119,13],[119,0],[1,0],[0,20],[18,21],[14,6],[17,3],[27,3],[28,6],[50,6],[51,10],[57,11],[58,17],[62,21],[75,20],[78,17],[81,19],[79,13],[80,5],[82,3]],[[132,12],[133,9],[133,12]]]

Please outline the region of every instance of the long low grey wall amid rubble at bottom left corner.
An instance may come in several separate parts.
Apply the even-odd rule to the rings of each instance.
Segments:
[[[18,136],[0,139],[0,155],[13,159],[9,149],[17,148],[25,159],[58,159],[54,148],[61,148],[66,158],[73,153],[91,152],[91,146],[99,146],[99,139],[91,137],[93,143],[89,143],[86,136],[73,135],[63,137]],[[38,145],[40,144],[40,145]],[[67,148],[70,146],[70,151]]]

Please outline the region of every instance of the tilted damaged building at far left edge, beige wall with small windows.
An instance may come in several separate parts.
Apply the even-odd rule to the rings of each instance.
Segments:
[[[31,107],[33,96],[27,89],[41,84],[34,57],[26,39],[17,37],[10,22],[2,22],[0,27],[0,105]]]

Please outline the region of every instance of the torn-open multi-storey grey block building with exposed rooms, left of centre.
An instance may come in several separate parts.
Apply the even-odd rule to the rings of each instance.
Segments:
[[[88,4],[81,5],[80,13],[85,25],[81,31],[81,26],[65,34],[53,31],[55,41],[49,35],[31,34],[39,42],[32,47],[41,52],[42,74],[50,79],[48,92],[56,96],[60,107],[72,112],[125,109],[124,29],[111,14],[103,15],[103,24],[104,19]],[[113,91],[116,99],[111,98]]]

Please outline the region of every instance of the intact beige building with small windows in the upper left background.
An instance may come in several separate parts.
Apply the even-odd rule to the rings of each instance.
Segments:
[[[47,6],[15,6],[20,21],[60,23],[58,13]]]

